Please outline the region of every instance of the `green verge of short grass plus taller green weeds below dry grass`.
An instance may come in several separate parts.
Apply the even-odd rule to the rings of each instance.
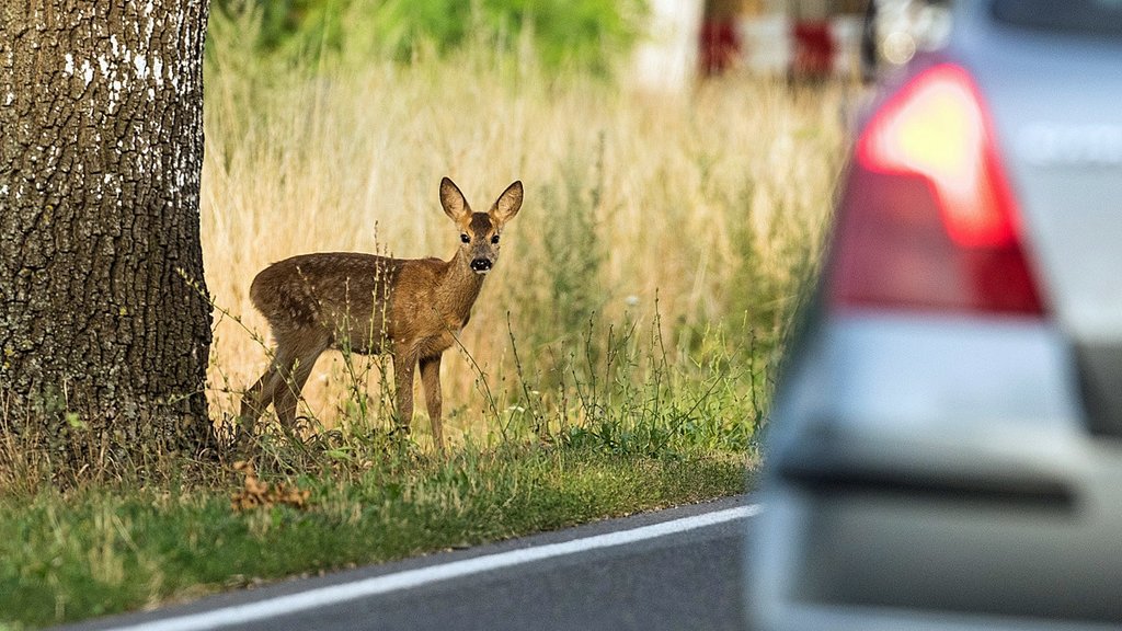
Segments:
[[[4,431],[0,414],[0,629],[743,492],[766,379],[716,351],[716,335],[698,351],[706,360],[678,366],[657,330],[598,340],[590,329],[562,347],[548,390],[521,360],[507,377],[479,373],[475,422],[489,429],[447,455],[393,431],[385,391],[371,400],[362,387],[332,427],[266,423],[248,460],[219,447],[73,472]],[[81,442],[89,430],[68,431]]]

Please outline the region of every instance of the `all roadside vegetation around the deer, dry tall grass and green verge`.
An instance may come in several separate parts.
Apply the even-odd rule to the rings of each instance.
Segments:
[[[301,10],[215,2],[211,19],[213,422],[229,430],[268,362],[257,271],[315,250],[447,258],[440,179],[476,210],[521,179],[444,356],[451,449],[434,452],[421,411],[411,436],[392,431],[387,360],[339,353],[301,427],[266,423],[249,457],[90,445],[103,466],[66,470],[6,431],[0,401],[0,629],[734,494],[757,463],[839,167],[843,86],[644,92],[620,71],[640,8],[577,46],[580,28],[551,35],[497,1],[453,3],[476,7],[453,35],[374,10],[436,1],[277,4]]]

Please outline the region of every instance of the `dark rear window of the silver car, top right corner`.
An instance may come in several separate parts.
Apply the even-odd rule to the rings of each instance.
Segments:
[[[1122,0],[995,0],[993,15],[1024,28],[1122,37]]]

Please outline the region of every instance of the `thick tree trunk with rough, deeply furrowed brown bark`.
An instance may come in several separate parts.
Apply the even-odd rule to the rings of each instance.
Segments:
[[[211,435],[208,4],[0,7],[0,431],[77,465],[195,452]]]

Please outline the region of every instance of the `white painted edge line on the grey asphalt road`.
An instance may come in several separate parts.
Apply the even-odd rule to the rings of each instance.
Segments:
[[[410,569],[396,574],[374,576],[370,578],[362,578],[353,583],[318,587],[315,589],[309,589],[307,592],[300,592],[297,594],[288,594],[285,596],[275,596],[243,605],[232,605],[203,613],[167,618],[151,622],[141,622],[130,627],[118,627],[114,628],[113,631],[140,631],[141,629],[144,631],[202,631],[204,629],[220,629],[236,624],[259,622],[261,620],[279,618],[291,613],[330,606],[366,596],[374,596],[376,594],[385,594],[388,592],[396,592],[398,589],[408,589],[411,587],[458,578],[460,576],[468,576],[493,569],[502,569],[505,567],[539,561],[552,557],[573,555],[597,548],[623,546],[625,543],[634,543],[645,539],[654,539],[708,525],[716,525],[732,520],[753,516],[758,514],[761,509],[762,506],[760,504],[749,504],[747,506],[738,506],[735,509],[726,509],[690,518],[664,521],[632,530],[620,530],[617,532],[608,532],[606,534],[596,534],[583,539],[564,541],[562,543],[550,543],[546,546],[539,546],[536,548],[511,550],[507,552],[475,557],[461,561]]]

